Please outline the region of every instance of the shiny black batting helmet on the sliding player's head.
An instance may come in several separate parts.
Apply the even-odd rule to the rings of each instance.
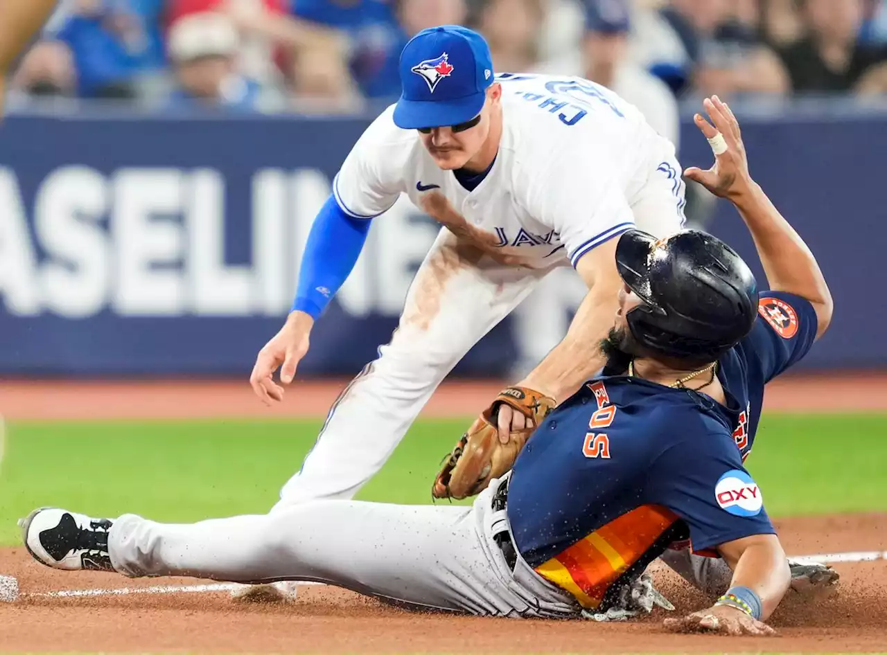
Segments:
[[[629,330],[655,354],[711,362],[755,322],[754,275],[733,248],[706,232],[657,240],[628,230],[616,246],[616,268],[643,300],[625,315]]]

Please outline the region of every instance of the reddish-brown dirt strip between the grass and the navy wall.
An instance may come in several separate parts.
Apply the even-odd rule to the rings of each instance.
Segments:
[[[243,380],[120,382],[0,380],[0,414],[8,419],[323,417],[347,380],[296,381],[284,401],[265,407]],[[426,417],[479,412],[504,380],[444,382]],[[827,402],[826,402],[827,401]],[[787,375],[767,386],[765,410],[883,411],[887,373]]]

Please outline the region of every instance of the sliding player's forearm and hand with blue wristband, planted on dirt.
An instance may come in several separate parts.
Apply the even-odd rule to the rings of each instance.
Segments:
[[[773,635],[765,624],[789,590],[791,573],[785,550],[775,534],[754,534],[718,546],[734,570],[726,594],[707,610],[683,619],[666,619],[677,632],[720,632],[727,635]]]

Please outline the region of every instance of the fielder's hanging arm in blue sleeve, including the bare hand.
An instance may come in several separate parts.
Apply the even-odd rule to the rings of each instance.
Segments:
[[[318,212],[311,225],[293,310],[287,322],[264,345],[255,358],[249,384],[262,402],[283,400],[283,386],[274,381],[280,367],[280,381],[288,385],[308,352],[315,319],[348,278],[364,247],[370,221],[345,214],[333,196]]]

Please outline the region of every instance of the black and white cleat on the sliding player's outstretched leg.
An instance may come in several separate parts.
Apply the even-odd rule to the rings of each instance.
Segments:
[[[20,519],[27,552],[43,565],[62,571],[114,572],[108,555],[111,519],[43,507]]]

